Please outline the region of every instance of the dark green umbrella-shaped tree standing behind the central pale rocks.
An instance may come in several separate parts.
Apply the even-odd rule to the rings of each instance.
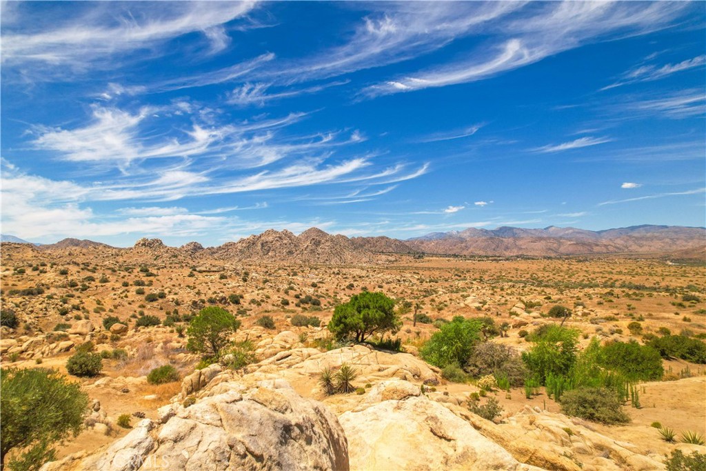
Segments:
[[[401,326],[394,299],[381,292],[361,292],[335,307],[328,330],[337,340],[354,337],[356,342],[363,342],[374,333],[395,334]]]

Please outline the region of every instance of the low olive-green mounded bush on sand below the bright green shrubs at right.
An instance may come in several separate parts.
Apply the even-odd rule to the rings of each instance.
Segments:
[[[566,415],[601,422],[603,424],[626,424],[630,417],[623,412],[618,395],[606,388],[577,388],[563,393],[559,400]]]

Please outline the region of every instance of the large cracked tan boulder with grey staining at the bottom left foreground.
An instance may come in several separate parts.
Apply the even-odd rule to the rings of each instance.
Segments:
[[[106,451],[47,463],[42,471],[349,469],[343,429],[321,403],[281,382],[242,389],[232,383],[191,407],[169,406],[161,426],[144,420]]]

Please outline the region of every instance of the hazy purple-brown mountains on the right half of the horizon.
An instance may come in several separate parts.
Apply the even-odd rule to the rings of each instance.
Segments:
[[[435,232],[405,243],[428,254],[459,255],[582,255],[582,254],[671,254],[693,251],[706,245],[703,227],[642,225],[589,231],[574,227],[523,229],[470,228]]]

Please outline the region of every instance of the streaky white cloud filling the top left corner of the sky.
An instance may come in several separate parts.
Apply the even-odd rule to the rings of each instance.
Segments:
[[[223,25],[244,18],[255,6],[254,1],[184,1],[163,8],[137,2],[125,4],[116,15],[100,4],[85,4],[78,17],[57,13],[37,18],[32,30],[18,32],[4,22],[2,61],[45,68],[112,66],[116,54],[154,49],[193,32],[203,33],[209,52],[220,52],[229,42]]]

